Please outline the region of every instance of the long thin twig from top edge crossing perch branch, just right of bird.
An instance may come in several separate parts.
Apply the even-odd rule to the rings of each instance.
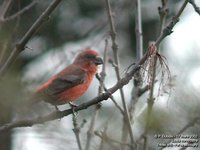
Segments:
[[[121,77],[120,77],[120,73],[119,73],[118,45],[116,43],[116,30],[115,30],[115,26],[114,26],[114,20],[113,20],[109,0],[106,0],[106,9],[107,9],[109,24],[110,24],[110,36],[112,39],[112,49],[113,49],[113,54],[114,54],[114,61],[117,66],[117,67],[115,67],[115,72],[116,72],[117,80],[119,81],[121,79]],[[120,89],[120,95],[121,95],[121,99],[122,99],[122,105],[124,108],[124,121],[123,121],[124,125],[123,126],[127,125],[128,130],[129,130],[130,139],[131,139],[131,144],[134,145],[134,137],[133,137],[132,127],[131,127],[131,122],[129,119],[129,113],[128,113],[128,109],[126,106],[125,96],[124,96],[124,92],[123,92],[122,88]]]

